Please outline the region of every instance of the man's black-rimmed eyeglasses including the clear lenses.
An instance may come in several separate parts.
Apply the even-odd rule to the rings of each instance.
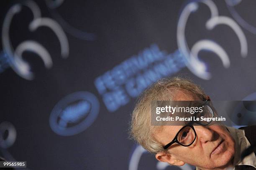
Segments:
[[[204,102],[203,106],[203,112],[197,112],[195,113],[195,117],[214,117],[214,109],[210,105],[210,101],[206,100]],[[211,122],[211,121],[210,121]],[[178,143],[179,145],[182,145],[184,147],[188,147],[192,145],[193,142],[195,142],[195,139],[197,137],[197,133],[195,132],[195,128],[191,125],[194,123],[200,124],[200,125],[208,125],[210,122],[207,121],[196,121],[196,122],[189,122],[189,125],[186,125],[182,127],[179,132],[176,134],[172,142],[168,143],[167,145],[163,146],[163,148],[166,150],[168,147],[170,147],[174,143]]]

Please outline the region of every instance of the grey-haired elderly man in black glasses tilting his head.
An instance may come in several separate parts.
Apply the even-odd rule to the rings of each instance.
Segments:
[[[241,154],[255,142],[256,127],[235,129],[224,125],[152,126],[151,101],[199,101],[209,97],[187,79],[162,79],[141,94],[131,120],[131,137],[157,160],[171,165],[185,163],[197,170],[256,169],[256,156]],[[248,135],[246,135],[248,134]],[[250,141],[249,141],[249,140]],[[251,142],[251,143],[250,143]],[[254,147],[255,149],[255,147]]]

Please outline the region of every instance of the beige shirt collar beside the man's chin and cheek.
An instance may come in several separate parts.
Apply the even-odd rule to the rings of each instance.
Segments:
[[[227,129],[236,142],[233,165],[250,165],[256,168],[256,157],[254,152],[241,159],[241,153],[243,153],[246,148],[251,146],[250,142],[245,136],[244,130],[236,129],[234,127],[227,127]],[[200,169],[196,167],[196,170]]]

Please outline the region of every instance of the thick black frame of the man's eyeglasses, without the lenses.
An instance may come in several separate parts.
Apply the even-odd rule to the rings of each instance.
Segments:
[[[209,101],[210,101],[209,99],[208,99],[208,100],[205,100],[205,102],[204,102],[203,105],[207,104]],[[202,106],[203,106],[203,105],[202,105]],[[210,105],[208,105],[208,106],[212,109],[212,107],[211,107]],[[212,117],[214,117],[214,109],[212,109]],[[210,122],[212,122],[212,120],[211,120]],[[210,124],[210,122],[207,123],[207,124]],[[200,124],[199,122],[196,122],[196,123],[197,123],[197,124]],[[190,122],[189,124],[193,124],[193,123]],[[207,125],[207,124],[200,124],[200,125],[205,126],[205,125]],[[194,139],[194,140],[191,142],[191,144],[189,144],[189,145],[183,145],[182,143],[180,143],[180,142],[178,141],[179,132],[181,132],[185,127],[191,127],[191,128],[194,130],[194,132],[195,132],[195,139]],[[166,150],[168,147],[170,147],[170,146],[171,146],[172,144],[174,144],[174,143],[178,143],[179,145],[182,145],[182,146],[184,146],[184,147],[188,147],[188,146],[192,145],[192,144],[195,142],[196,138],[197,138],[197,133],[196,133],[196,131],[195,131],[194,126],[192,126],[192,125],[186,125],[186,126],[182,127],[181,129],[179,129],[179,132],[177,132],[177,134],[176,134],[176,136],[174,137],[174,139],[172,140],[172,142],[169,142],[168,144],[166,144],[166,145],[163,146],[164,150]]]

